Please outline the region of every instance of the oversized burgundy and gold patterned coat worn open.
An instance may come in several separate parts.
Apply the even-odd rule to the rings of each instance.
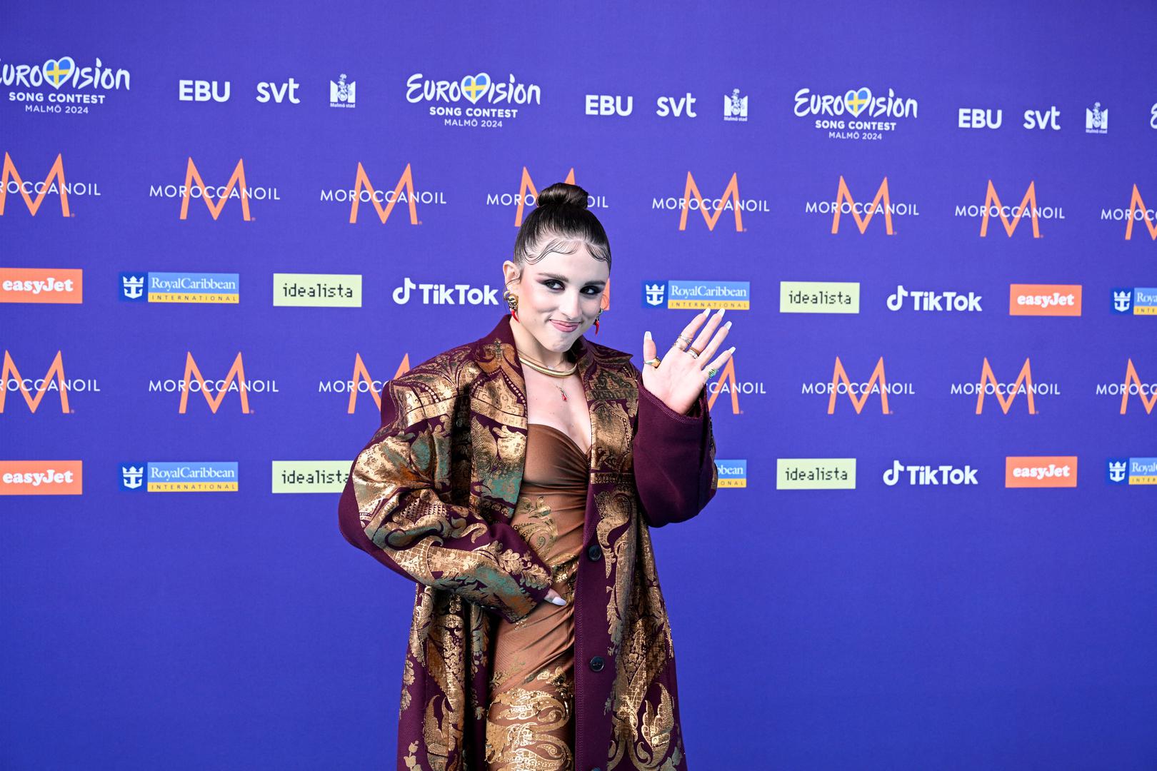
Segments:
[[[706,395],[678,415],[627,354],[576,341],[590,483],[574,602],[575,768],[683,771],[675,652],[648,527],[715,494]],[[526,398],[508,317],[386,384],[382,425],[341,495],[341,533],[418,581],[398,768],[485,769],[492,631],[544,601],[550,569],[509,525]]]

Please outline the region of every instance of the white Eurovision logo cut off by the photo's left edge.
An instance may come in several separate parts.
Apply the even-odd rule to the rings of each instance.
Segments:
[[[131,80],[127,69],[105,67],[100,57],[95,67],[78,67],[72,57],[45,59],[38,65],[6,64],[0,67],[0,86],[9,87],[8,101],[23,103],[24,112],[83,114],[90,105],[104,104],[108,94],[101,91],[121,88],[127,91]],[[10,88],[13,86],[16,88]],[[40,90],[20,90],[30,88]]]

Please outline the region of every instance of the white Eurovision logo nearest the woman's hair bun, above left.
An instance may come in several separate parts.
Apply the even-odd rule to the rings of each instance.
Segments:
[[[422,73],[406,79],[406,102],[429,103],[429,114],[442,118],[443,126],[501,128],[503,120],[518,118],[519,108],[540,104],[541,101],[540,87],[521,83],[513,73],[506,82],[492,80],[487,73],[465,75],[454,81],[427,80]],[[464,102],[469,104],[462,106]],[[479,102],[482,104],[479,105]]]

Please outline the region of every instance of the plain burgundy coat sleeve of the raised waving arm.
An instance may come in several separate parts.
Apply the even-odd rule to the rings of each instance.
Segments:
[[[648,525],[681,522],[702,511],[718,482],[707,390],[690,415],[679,415],[647,391],[640,378],[632,455]]]

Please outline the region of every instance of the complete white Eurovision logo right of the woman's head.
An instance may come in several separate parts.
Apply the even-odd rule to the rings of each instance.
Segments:
[[[795,95],[795,114],[812,118],[815,127],[826,131],[828,139],[884,139],[901,120],[915,120],[919,110],[915,99],[898,97],[892,89],[887,89],[887,96],[875,96],[863,87],[843,94],[812,94],[802,88]]]

